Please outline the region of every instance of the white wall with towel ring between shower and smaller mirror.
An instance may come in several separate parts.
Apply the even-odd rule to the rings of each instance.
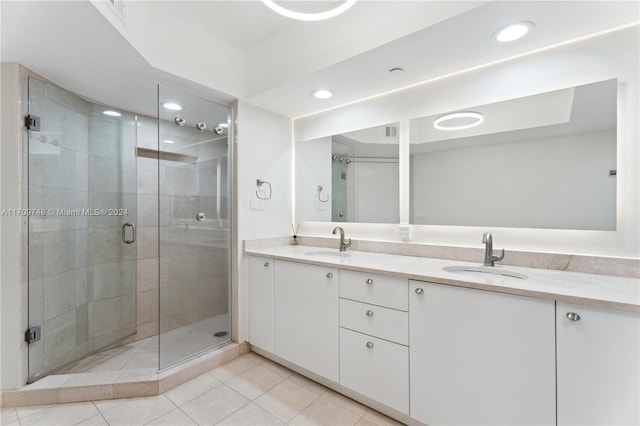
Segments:
[[[238,341],[246,334],[247,265],[242,242],[291,235],[292,122],[244,102],[237,110]],[[271,199],[258,200],[256,179],[271,183]],[[263,188],[265,188],[263,186]],[[266,188],[265,188],[266,191]]]

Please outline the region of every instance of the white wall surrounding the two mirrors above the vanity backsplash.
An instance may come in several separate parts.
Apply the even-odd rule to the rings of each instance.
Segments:
[[[513,250],[640,257],[640,157],[638,26],[578,40],[485,68],[413,87],[368,101],[295,120],[296,141],[455,111],[507,99],[617,78],[616,231],[531,230],[522,228],[414,226],[419,243],[480,247],[482,232],[494,234],[496,247]],[[400,137],[400,153],[408,155]],[[405,164],[403,168],[403,163]],[[408,161],[400,159],[401,222],[408,221]],[[303,235],[328,236],[331,223],[308,223]],[[400,241],[397,225],[345,224],[349,237]]]

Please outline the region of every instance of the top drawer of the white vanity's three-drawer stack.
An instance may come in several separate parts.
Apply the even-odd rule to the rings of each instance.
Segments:
[[[409,280],[366,272],[340,271],[340,297],[408,310]]]

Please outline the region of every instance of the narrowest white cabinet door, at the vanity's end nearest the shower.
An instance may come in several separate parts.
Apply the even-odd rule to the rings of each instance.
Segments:
[[[273,260],[249,256],[249,342],[273,352]]]

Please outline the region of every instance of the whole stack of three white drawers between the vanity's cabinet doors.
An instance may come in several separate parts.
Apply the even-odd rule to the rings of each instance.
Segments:
[[[340,384],[409,414],[408,281],[340,271]]]

